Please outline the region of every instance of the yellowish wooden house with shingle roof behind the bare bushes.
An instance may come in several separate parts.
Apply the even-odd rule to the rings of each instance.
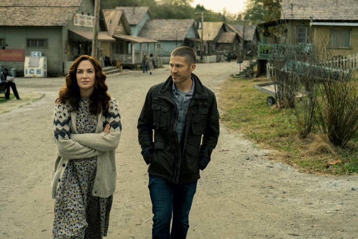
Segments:
[[[270,58],[265,49],[287,47],[317,51],[322,60],[358,53],[358,1],[282,0],[281,5],[281,19],[260,24],[259,59]]]

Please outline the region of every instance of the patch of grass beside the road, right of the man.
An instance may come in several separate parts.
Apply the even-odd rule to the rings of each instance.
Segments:
[[[218,99],[220,119],[263,148],[275,150],[271,159],[293,165],[299,171],[329,174],[358,172],[358,132],[346,148],[331,145],[319,134],[299,137],[295,110],[266,105],[269,96],[254,89],[267,79],[228,79]]]

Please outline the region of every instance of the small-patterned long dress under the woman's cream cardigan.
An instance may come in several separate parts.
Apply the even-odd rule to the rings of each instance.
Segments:
[[[97,121],[82,98],[76,117],[77,132],[95,133]],[[70,160],[66,166],[55,200],[54,238],[97,239],[107,235],[113,195],[92,196],[96,169],[97,157]]]

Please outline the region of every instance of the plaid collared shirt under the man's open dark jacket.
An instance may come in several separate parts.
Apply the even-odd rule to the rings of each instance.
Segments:
[[[176,134],[178,136],[178,140],[180,143],[181,143],[182,137],[183,137],[189,103],[190,103],[191,98],[193,98],[193,94],[194,94],[195,82],[193,79],[191,79],[191,80],[193,81],[193,85],[191,86],[191,89],[189,92],[182,92],[180,90],[177,90],[175,88],[174,83],[172,86],[173,98],[174,98],[174,102],[176,105],[176,111],[178,113],[178,122],[176,124]]]

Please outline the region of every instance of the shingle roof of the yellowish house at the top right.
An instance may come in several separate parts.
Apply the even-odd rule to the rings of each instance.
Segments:
[[[357,0],[282,0],[281,19],[358,20]]]

